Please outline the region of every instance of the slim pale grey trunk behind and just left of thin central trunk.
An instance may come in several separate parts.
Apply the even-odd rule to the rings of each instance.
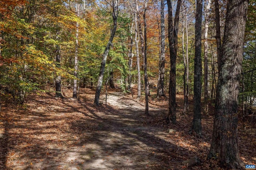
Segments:
[[[138,94],[137,94],[137,100],[140,100],[140,95],[141,95],[141,78],[140,78],[140,56],[139,56],[139,40],[138,40],[138,22],[137,22],[137,0],[135,0],[136,4],[136,10],[134,14],[134,22],[135,22],[135,46],[136,46],[136,59],[137,59],[137,70],[138,70]],[[143,52],[144,53],[144,52]]]

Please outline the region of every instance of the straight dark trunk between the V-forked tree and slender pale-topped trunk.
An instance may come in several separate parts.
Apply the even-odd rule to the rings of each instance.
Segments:
[[[202,58],[201,58],[201,30],[202,30],[202,9],[203,1],[196,1],[196,26],[195,26],[195,59],[194,59],[194,117],[192,121],[192,130],[201,137],[201,75],[202,75]]]

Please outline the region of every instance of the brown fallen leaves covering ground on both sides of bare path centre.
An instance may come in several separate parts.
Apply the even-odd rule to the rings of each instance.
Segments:
[[[104,125],[104,121],[108,121],[106,115],[118,117],[120,114],[114,106],[94,106],[94,93],[89,89],[84,92],[86,93],[81,92],[81,98],[84,100],[80,101],[40,94],[41,96],[29,96],[25,108],[3,107],[0,113],[0,169],[83,169],[85,162],[90,159],[108,162],[116,156],[114,150],[98,151],[98,154],[84,153],[93,148],[90,145],[95,144],[96,137],[102,137],[99,133],[100,135],[92,138],[92,133],[110,128]],[[167,99],[151,99],[150,102],[154,104],[153,107],[168,108]],[[134,139],[136,137],[142,142],[145,141],[144,148],[139,145],[134,147],[135,150],[129,150],[134,154],[134,158],[136,154],[141,154],[140,157],[144,159],[148,156],[160,160],[148,162],[144,166],[145,169],[188,169],[182,166],[181,162],[195,155],[199,156],[200,160],[205,160],[210,147],[213,119],[210,116],[203,117],[204,137],[197,139],[195,135],[188,133],[192,114],[180,114],[181,106],[182,98],[178,98],[177,125],[166,125],[164,119],[167,112],[160,111],[152,117],[136,117],[136,121],[140,121],[142,127],[152,129],[150,133],[143,131],[143,128],[123,132],[127,135],[133,132]],[[176,132],[166,133],[168,128],[175,129]],[[106,136],[109,135],[108,131],[105,133]],[[244,133],[239,129],[239,136],[240,157],[247,164],[255,164],[256,158],[252,149],[256,147],[256,143],[255,140],[251,140],[255,139],[255,134],[251,134],[250,131]],[[80,158],[77,153],[85,155]],[[101,158],[100,155],[105,157]],[[125,160],[127,161],[124,162],[129,165],[139,164],[141,161],[139,157],[137,160]],[[190,169],[220,168],[216,161],[210,160]]]

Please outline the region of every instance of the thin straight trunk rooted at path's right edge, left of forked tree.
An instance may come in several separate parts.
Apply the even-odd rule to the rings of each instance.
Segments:
[[[145,100],[146,100],[146,107],[145,107],[145,115],[149,115],[148,113],[148,73],[147,73],[147,22],[146,22],[146,10],[147,10],[147,1],[145,0],[145,9],[143,14],[144,19],[144,39],[145,39],[145,49],[144,49],[144,81],[145,81]]]

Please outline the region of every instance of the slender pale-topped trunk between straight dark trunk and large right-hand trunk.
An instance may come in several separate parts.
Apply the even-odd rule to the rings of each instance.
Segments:
[[[208,25],[210,15],[211,0],[208,0],[205,12],[204,28],[204,103],[207,105],[208,100]]]

